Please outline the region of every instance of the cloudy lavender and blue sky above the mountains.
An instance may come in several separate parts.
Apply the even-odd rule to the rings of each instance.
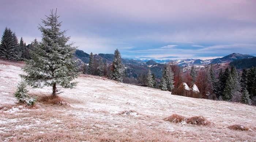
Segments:
[[[26,44],[53,9],[79,50],[132,59],[256,56],[256,0],[0,0],[0,34]],[[45,16],[46,15],[46,16]]]

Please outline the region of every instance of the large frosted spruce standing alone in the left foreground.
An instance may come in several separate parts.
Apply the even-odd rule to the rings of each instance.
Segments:
[[[33,88],[52,87],[53,96],[58,94],[56,85],[74,88],[77,82],[71,81],[79,74],[76,61],[72,60],[76,47],[73,43],[66,44],[70,37],[65,36],[66,31],[60,31],[61,22],[58,22],[56,12],[51,10],[47,20],[42,20],[45,27],[38,27],[42,32],[42,41],[32,43],[31,59],[25,60],[22,68],[27,75],[20,75]]]

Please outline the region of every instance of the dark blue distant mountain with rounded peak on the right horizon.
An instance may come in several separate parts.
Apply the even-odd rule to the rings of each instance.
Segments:
[[[233,53],[233,54],[229,54],[222,58],[216,58],[216,59],[212,60],[210,64],[227,63],[227,62],[232,62],[235,60],[241,60],[241,59],[252,58],[252,57],[255,57],[255,56],[248,55],[248,54]]]

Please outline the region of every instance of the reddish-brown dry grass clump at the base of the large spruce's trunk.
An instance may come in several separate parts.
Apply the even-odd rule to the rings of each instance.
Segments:
[[[67,105],[67,102],[65,102],[61,97],[57,95],[43,96],[41,98],[38,98],[38,102],[42,102],[44,104]]]

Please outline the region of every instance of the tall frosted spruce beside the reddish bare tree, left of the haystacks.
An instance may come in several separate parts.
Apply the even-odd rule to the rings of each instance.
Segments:
[[[172,89],[174,88],[174,74],[169,64],[165,65],[165,68],[163,69],[163,78],[165,78],[167,90],[172,91]]]

